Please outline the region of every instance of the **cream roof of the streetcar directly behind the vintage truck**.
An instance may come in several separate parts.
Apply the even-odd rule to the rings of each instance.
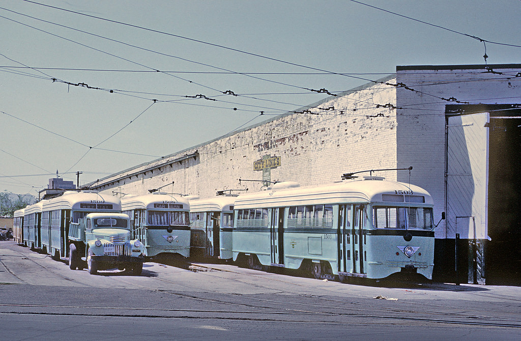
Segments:
[[[108,194],[95,192],[67,191],[61,197],[53,198],[43,204],[44,211],[79,209],[80,203],[112,204],[113,210],[121,209],[121,200]]]

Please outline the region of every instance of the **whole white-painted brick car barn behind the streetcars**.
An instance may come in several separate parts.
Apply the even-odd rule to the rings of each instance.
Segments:
[[[435,202],[433,279],[519,284],[521,64],[398,66],[396,74],[88,186],[213,197],[373,172]],[[364,174],[361,174],[364,175]],[[369,174],[366,174],[369,175]],[[235,192],[241,193],[241,192]]]

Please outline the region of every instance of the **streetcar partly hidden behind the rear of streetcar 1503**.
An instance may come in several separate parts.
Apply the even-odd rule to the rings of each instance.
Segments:
[[[190,200],[191,252],[194,258],[232,258],[233,205],[237,196]]]

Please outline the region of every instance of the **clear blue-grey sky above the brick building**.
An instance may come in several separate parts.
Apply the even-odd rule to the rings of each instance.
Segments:
[[[485,64],[485,48],[488,64],[521,63],[519,0],[361,2],[395,14],[349,0],[0,0],[0,190],[38,197],[56,170],[83,185],[396,65]]]

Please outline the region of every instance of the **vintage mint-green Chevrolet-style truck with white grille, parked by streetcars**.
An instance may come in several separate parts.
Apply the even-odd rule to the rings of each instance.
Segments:
[[[143,271],[144,246],[131,240],[130,218],[121,213],[89,213],[69,226],[69,267],[83,269],[85,257],[89,273],[119,269],[133,275]],[[84,255],[84,256],[83,256]]]

